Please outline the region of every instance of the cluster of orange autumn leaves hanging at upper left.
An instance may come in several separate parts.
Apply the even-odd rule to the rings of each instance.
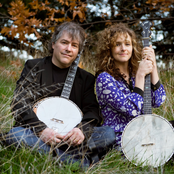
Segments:
[[[45,0],[45,2],[34,0],[28,4],[29,7],[27,7],[21,0],[11,2],[8,13],[11,16],[10,19],[13,23],[10,27],[4,27],[1,30],[1,33],[8,37],[10,36],[12,39],[17,37],[21,43],[31,45],[32,43],[28,41],[27,36],[34,33],[37,38],[40,38],[41,35],[38,30],[41,28],[45,27],[48,31],[53,31],[54,25],[62,23],[63,21],[73,20],[76,16],[78,16],[81,22],[85,20],[85,3],[80,0],[57,1],[60,3],[60,9],[51,8],[48,0]],[[72,13],[72,19],[66,17],[65,6],[69,7],[69,11]],[[41,11],[46,12],[46,18],[44,20],[36,18],[37,13]],[[56,14],[60,14],[62,17],[56,18]]]

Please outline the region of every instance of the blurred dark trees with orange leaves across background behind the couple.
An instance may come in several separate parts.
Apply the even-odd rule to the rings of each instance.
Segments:
[[[140,21],[153,23],[152,43],[159,59],[174,56],[174,0],[1,0],[0,46],[43,53],[53,29],[76,21],[95,35],[114,22],[127,23],[141,35]]]

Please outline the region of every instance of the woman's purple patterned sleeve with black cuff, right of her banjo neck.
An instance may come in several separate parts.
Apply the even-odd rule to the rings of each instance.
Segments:
[[[166,99],[166,92],[163,85],[158,81],[155,85],[151,85],[152,107],[157,108]]]

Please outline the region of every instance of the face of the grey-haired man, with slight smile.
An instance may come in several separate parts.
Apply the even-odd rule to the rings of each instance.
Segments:
[[[52,62],[59,68],[67,68],[76,59],[79,52],[79,41],[72,40],[72,37],[63,32],[62,36],[52,44]]]

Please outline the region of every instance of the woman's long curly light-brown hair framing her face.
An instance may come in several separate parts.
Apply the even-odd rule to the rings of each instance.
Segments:
[[[109,26],[97,33],[97,45],[95,46],[94,64],[96,77],[106,71],[112,75],[115,79],[124,78],[125,75],[120,73],[119,68],[116,67],[116,62],[111,54],[111,48],[115,46],[117,37],[123,34],[127,37],[127,34],[132,39],[132,56],[129,60],[129,68],[132,76],[135,76],[138,69],[138,61],[142,59],[142,43],[138,42],[135,32],[130,29],[124,23],[117,23]]]

